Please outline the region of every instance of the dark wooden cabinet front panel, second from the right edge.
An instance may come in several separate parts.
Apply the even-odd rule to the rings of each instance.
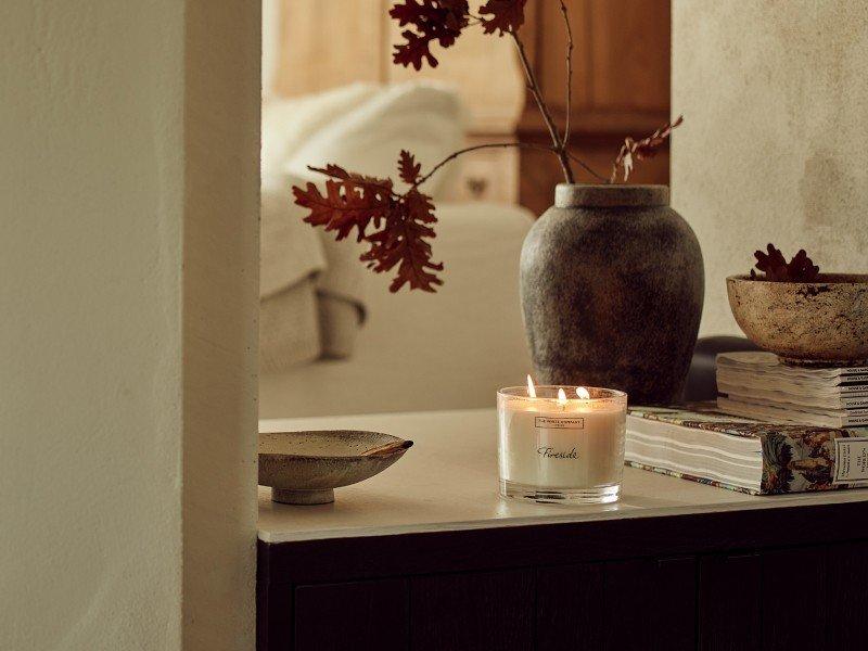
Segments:
[[[763,552],[763,651],[826,648],[826,595],[825,548]]]

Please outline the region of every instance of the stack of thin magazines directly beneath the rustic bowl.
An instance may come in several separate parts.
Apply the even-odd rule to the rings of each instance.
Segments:
[[[771,353],[717,356],[720,411],[827,427],[868,424],[868,368],[804,368]]]

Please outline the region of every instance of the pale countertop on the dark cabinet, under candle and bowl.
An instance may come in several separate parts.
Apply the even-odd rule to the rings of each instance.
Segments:
[[[259,422],[260,432],[334,429],[385,432],[410,438],[414,445],[381,474],[336,488],[331,505],[275,503],[271,489],[260,486],[260,540],[286,542],[868,500],[868,489],[754,497],[625,468],[617,503],[529,503],[506,500],[497,493],[494,409]]]

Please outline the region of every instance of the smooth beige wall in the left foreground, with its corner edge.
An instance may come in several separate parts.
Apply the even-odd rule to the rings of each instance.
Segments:
[[[258,2],[203,5],[0,2],[0,649],[253,649]]]

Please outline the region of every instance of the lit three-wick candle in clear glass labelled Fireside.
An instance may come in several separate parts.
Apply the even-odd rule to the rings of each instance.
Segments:
[[[627,394],[510,386],[497,392],[497,413],[500,495],[567,503],[617,500]]]

